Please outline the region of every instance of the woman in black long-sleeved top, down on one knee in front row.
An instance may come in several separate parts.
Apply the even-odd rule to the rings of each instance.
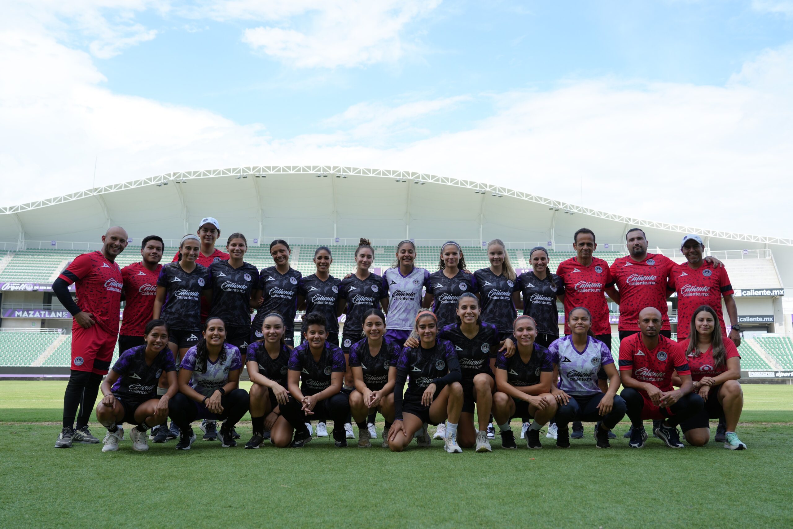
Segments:
[[[402,350],[397,362],[397,383],[394,386],[394,423],[389,431],[389,448],[401,452],[421,430],[419,447],[432,442],[427,423],[446,424],[444,450],[450,454],[462,452],[457,443],[457,425],[462,412],[462,373],[454,345],[438,338],[438,320],[429,310],[416,316],[413,332],[419,337],[419,347]],[[408,390],[403,391],[408,381]]]

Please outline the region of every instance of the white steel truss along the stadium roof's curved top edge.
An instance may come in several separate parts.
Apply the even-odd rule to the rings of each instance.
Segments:
[[[86,197],[94,197],[106,193],[114,193],[144,186],[163,186],[170,183],[184,183],[194,178],[216,178],[223,176],[233,176],[239,178],[255,177],[263,178],[268,174],[321,174],[328,176],[372,176],[378,178],[394,178],[402,182],[416,183],[438,183],[446,186],[462,187],[475,190],[482,194],[495,194],[496,196],[515,197],[521,200],[546,205],[549,208],[560,209],[571,213],[581,213],[592,217],[606,220],[613,220],[621,224],[641,226],[643,228],[656,228],[671,232],[696,233],[700,236],[716,237],[718,239],[740,240],[749,243],[781,244],[793,246],[793,239],[781,237],[768,237],[747,235],[745,233],[723,232],[705,228],[695,228],[680,224],[670,224],[666,222],[655,222],[653,220],[643,220],[634,217],[626,217],[615,213],[607,213],[598,209],[584,208],[580,205],[569,204],[568,202],[557,201],[551,198],[539,197],[534,194],[524,193],[523,191],[512,190],[503,186],[493,186],[485,182],[473,182],[462,178],[450,178],[435,174],[419,173],[414,171],[397,171],[390,169],[370,169],[362,167],[328,166],[328,165],[274,165],[274,166],[247,166],[230,167],[227,169],[209,169],[205,171],[178,171],[173,173],[158,174],[149,178],[141,178],[130,182],[113,184],[111,186],[96,187],[91,190],[82,190],[76,193],[65,194],[59,197],[45,198],[44,200],[28,202],[27,204],[10,205],[0,208],[0,214],[12,215],[32,209],[45,208],[49,205],[63,204],[65,202],[79,200]],[[105,213],[106,215],[106,213]]]

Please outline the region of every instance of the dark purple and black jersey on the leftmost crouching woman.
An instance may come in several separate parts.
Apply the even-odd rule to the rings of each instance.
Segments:
[[[113,371],[120,376],[110,391],[121,399],[147,401],[156,397],[160,375],[175,370],[174,354],[167,347],[159,351],[151,366],[146,363],[146,346],[132,347],[113,364]]]

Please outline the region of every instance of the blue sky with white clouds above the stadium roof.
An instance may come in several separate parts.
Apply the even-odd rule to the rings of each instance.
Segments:
[[[95,160],[97,184],[341,163],[569,201],[550,182],[583,178],[600,209],[793,236],[791,42],[787,0],[12,2],[0,169],[29,183],[2,202]],[[681,179],[723,207],[658,197]]]

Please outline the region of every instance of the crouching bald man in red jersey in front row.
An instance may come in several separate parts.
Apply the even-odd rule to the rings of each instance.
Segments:
[[[642,420],[661,420],[653,433],[670,448],[683,448],[677,425],[701,412],[705,403],[694,390],[691,370],[682,349],[661,335],[661,311],[646,307],[639,312],[640,332],[619,344],[619,375],[625,389],[631,434],[628,446],[642,448],[647,433]],[[672,387],[677,371],[680,389]]]

